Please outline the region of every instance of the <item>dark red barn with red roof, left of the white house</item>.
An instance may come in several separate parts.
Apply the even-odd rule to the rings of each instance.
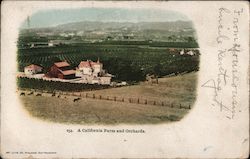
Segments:
[[[47,73],[49,77],[60,78],[60,79],[72,79],[75,78],[75,70],[70,68],[68,62],[56,62],[50,67]]]

